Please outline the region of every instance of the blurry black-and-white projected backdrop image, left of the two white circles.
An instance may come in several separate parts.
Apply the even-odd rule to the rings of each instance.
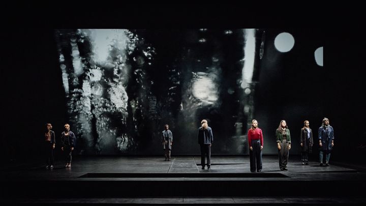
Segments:
[[[213,154],[248,152],[264,30],[56,30],[69,121],[81,154],[198,154],[202,119]]]

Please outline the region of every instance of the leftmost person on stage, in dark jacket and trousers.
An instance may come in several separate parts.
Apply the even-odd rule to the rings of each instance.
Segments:
[[[54,158],[53,158],[53,149],[55,148],[55,133],[51,130],[52,125],[50,123],[46,124],[46,132],[45,132],[45,153],[46,153],[46,169],[53,168]]]

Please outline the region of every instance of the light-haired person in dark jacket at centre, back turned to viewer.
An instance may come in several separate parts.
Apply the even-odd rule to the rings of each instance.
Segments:
[[[205,169],[205,155],[207,157],[207,169],[211,167],[211,145],[214,142],[214,135],[212,135],[212,129],[208,127],[207,121],[201,121],[201,127],[198,128],[198,143],[201,148],[201,166]]]

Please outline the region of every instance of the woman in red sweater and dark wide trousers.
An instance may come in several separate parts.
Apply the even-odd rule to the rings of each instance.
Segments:
[[[248,143],[251,172],[262,172],[263,133],[256,120],[252,121],[252,128],[248,130]]]

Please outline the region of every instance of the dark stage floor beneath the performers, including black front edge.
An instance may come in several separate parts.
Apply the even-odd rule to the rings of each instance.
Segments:
[[[293,156],[281,171],[277,156],[263,156],[263,172],[251,173],[248,156],[212,156],[202,170],[199,156],[74,157],[2,167],[1,203],[366,203],[362,165],[318,162]]]

